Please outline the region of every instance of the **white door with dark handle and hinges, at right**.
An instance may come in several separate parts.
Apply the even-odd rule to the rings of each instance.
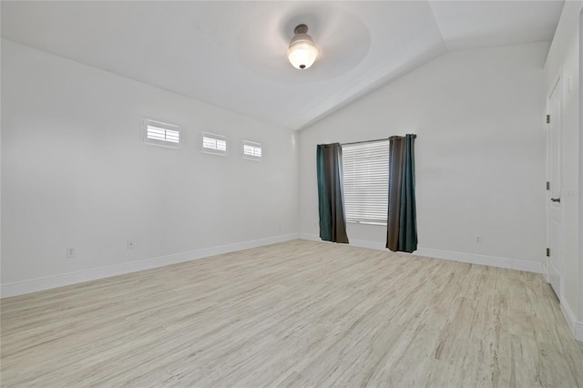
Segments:
[[[548,172],[550,188],[547,191],[548,199],[548,281],[560,300],[561,281],[563,277],[563,262],[561,260],[561,203],[562,189],[562,117],[561,105],[563,99],[562,79],[557,80],[548,99]]]

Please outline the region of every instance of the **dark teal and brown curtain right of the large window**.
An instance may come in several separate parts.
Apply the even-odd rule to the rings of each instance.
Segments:
[[[389,213],[386,248],[409,253],[417,250],[415,138],[415,135],[389,138]]]

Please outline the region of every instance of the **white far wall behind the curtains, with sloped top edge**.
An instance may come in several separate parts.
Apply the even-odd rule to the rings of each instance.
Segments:
[[[416,133],[419,253],[540,271],[547,48],[452,52],[304,129],[303,236],[318,234],[316,144]],[[353,243],[384,246],[384,227],[349,224],[348,233]]]

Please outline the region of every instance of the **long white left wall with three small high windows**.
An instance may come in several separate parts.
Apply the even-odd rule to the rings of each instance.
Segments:
[[[297,237],[291,131],[6,40],[2,101],[3,286]],[[182,126],[184,147],[142,144],[140,117]],[[228,136],[230,157],[199,153],[200,130]]]

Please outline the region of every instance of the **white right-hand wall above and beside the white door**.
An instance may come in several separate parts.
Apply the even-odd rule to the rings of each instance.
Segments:
[[[561,77],[563,82],[563,187],[560,189],[563,234],[561,241],[564,281],[561,285],[561,304],[571,315],[583,321],[583,251],[580,247],[581,182],[579,180],[579,13],[581,1],[565,3],[545,63],[545,90]],[[583,330],[583,323],[581,330]],[[583,341],[583,332],[581,333]]]

